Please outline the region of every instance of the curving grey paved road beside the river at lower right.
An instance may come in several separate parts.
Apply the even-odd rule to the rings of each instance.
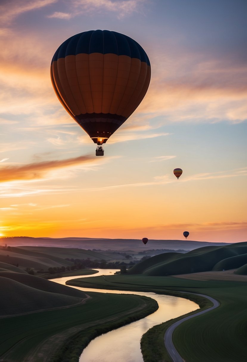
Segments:
[[[207,313],[209,311],[211,311],[212,309],[215,309],[219,306],[219,302],[218,300],[211,298],[208,295],[204,295],[204,294],[197,294],[197,293],[190,293],[190,294],[196,294],[196,295],[201,295],[204,298],[209,299],[212,303],[213,303],[213,307],[210,307],[208,309],[206,309],[205,311],[201,311],[198,313],[195,313],[193,315],[190,315],[188,317],[185,317],[183,319],[180,319],[179,321],[177,321],[176,323],[172,324],[166,331],[165,333],[165,337],[164,337],[164,342],[165,342],[165,346],[167,349],[168,354],[170,355],[171,359],[173,362],[184,362],[184,359],[180,356],[180,354],[177,352],[177,350],[175,349],[173,342],[172,342],[172,332],[174,331],[174,329],[181,323],[183,323],[185,320],[191,319],[193,317],[196,317],[198,315]]]

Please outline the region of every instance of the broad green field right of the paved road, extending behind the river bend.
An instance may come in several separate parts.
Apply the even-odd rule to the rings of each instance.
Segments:
[[[70,284],[72,282],[70,281]],[[75,283],[75,281],[73,282]],[[78,284],[78,279],[76,281]],[[81,286],[104,289],[145,290],[164,294],[176,294],[178,291],[202,293],[219,300],[221,306],[205,315],[195,317],[181,326],[173,340],[185,361],[189,362],[245,362],[247,339],[247,289],[244,282],[194,281],[173,277],[148,277],[146,275],[112,275],[87,278]],[[193,298],[193,297],[192,297]],[[166,324],[159,327],[162,341]],[[155,327],[154,327],[155,331]],[[147,332],[148,333],[148,332]],[[151,341],[149,345],[148,341]],[[152,359],[145,362],[170,361],[164,346],[155,345],[151,338],[146,340],[144,349],[153,350]],[[143,346],[142,346],[143,348]],[[154,357],[159,348],[159,356]]]

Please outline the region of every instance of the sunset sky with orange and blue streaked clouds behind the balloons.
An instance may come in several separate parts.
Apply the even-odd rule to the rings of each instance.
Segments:
[[[2,0],[0,236],[247,241],[246,24],[246,0]],[[50,80],[60,44],[96,29],[151,63],[104,157]]]

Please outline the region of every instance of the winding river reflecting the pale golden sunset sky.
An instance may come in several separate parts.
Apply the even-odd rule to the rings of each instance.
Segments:
[[[86,278],[96,275],[111,275],[117,271],[116,269],[95,270],[98,270],[99,273],[93,275],[78,275],[76,277],[56,278],[52,279],[52,281],[65,285],[65,282],[70,279],[81,277]],[[151,315],[96,337],[83,350],[79,362],[143,362],[140,340],[142,335],[146,333],[149,328],[198,309],[198,305],[191,302],[191,300],[170,295],[161,295],[151,292],[146,293],[80,287],[72,288],[83,290],[85,292],[93,291],[100,293],[145,295],[155,299],[159,304],[159,309]]]

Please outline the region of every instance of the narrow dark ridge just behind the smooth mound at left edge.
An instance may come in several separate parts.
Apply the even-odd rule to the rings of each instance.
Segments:
[[[12,271],[0,271],[0,277],[9,278],[28,287],[45,292],[64,294],[77,298],[86,298],[83,291],[67,287],[66,285],[54,283],[47,279],[35,277],[34,275],[13,273]]]

